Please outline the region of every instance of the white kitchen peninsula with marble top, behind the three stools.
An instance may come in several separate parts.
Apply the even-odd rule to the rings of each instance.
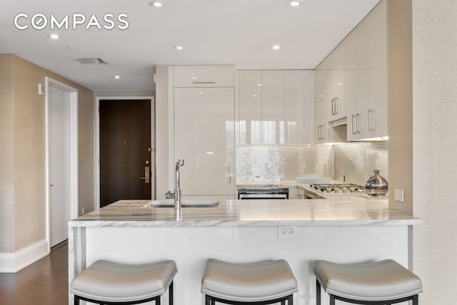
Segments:
[[[176,304],[204,304],[206,259],[286,259],[298,280],[295,304],[316,304],[314,259],[411,264],[411,226],[421,219],[385,199],[228,200],[216,207],[151,208],[124,200],[69,222],[69,281],[97,259],[174,259]],[[69,297],[73,304],[72,295]],[[166,298],[164,298],[166,304]]]

